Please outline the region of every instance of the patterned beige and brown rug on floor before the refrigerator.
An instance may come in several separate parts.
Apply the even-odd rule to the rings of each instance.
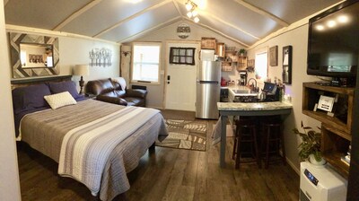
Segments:
[[[206,152],[207,124],[188,120],[165,119],[169,135],[156,146]]]

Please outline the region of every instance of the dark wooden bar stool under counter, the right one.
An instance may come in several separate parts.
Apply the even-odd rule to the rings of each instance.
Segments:
[[[263,146],[266,147],[265,150],[265,169],[268,168],[269,163],[269,153],[279,154],[280,147],[282,148],[282,161],[285,165],[285,137],[282,132],[282,124],[280,119],[272,118],[265,119],[261,123],[262,128],[262,142],[261,142],[261,153],[263,153]]]

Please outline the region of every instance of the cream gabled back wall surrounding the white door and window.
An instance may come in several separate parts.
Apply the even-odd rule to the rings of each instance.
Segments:
[[[181,24],[181,23],[187,23],[190,27],[190,35],[187,39],[180,39],[177,35],[177,27]],[[181,22],[176,22],[173,23],[167,27],[164,27],[158,31],[153,31],[150,32],[146,35],[144,35],[142,38],[140,39],[136,39],[136,41],[148,41],[148,42],[162,42],[162,56],[161,56],[161,70],[164,71],[166,68],[166,64],[165,64],[165,60],[166,60],[166,41],[175,41],[178,40],[179,42],[186,42],[188,40],[194,41],[200,41],[202,37],[207,37],[207,38],[215,38],[217,40],[217,42],[224,42],[226,46],[229,47],[236,47],[237,49],[243,48],[241,46],[241,44],[234,42],[230,39],[226,39],[223,36],[215,33],[214,31],[208,31],[200,26],[198,26],[196,23],[192,23],[192,22],[188,22],[188,21],[181,21]],[[127,43],[127,45],[130,45],[130,43]],[[236,76],[236,72],[233,70],[232,74],[228,74],[225,73],[225,76],[229,77],[235,77]],[[186,82],[186,81],[183,81]],[[147,91],[148,91],[148,95],[147,95],[147,103],[146,105],[148,107],[153,107],[153,108],[159,108],[162,109],[163,105],[162,105],[162,101],[163,101],[163,89],[164,89],[164,74],[161,74],[160,77],[160,84],[159,85],[153,85],[153,84],[142,84],[141,85],[146,85],[147,86]]]

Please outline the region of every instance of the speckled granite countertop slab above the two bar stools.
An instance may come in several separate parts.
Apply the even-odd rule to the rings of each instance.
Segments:
[[[288,102],[217,102],[218,110],[275,110],[292,109],[292,104]]]

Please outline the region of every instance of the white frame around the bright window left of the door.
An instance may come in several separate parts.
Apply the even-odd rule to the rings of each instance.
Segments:
[[[157,82],[155,81],[146,81],[146,80],[134,80],[134,67],[135,67],[135,47],[136,46],[155,46],[159,47],[159,57],[158,57],[158,74],[157,74]],[[152,84],[160,84],[161,82],[161,60],[162,59],[162,43],[161,42],[134,42],[132,43],[132,57],[131,57],[131,65],[130,65],[130,83],[152,83]]]

